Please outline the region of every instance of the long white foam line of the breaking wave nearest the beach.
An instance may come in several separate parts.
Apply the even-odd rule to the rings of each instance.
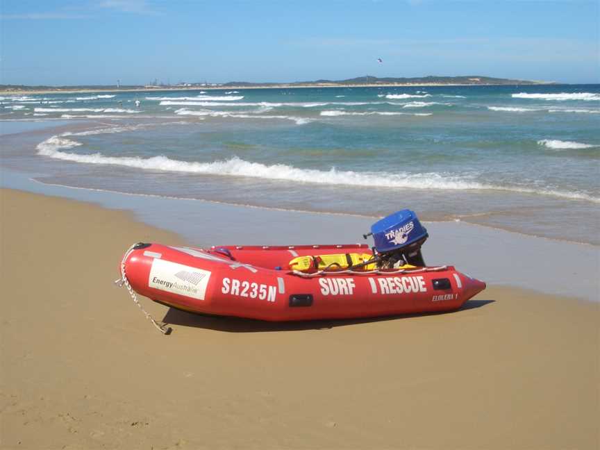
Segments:
[[[584,199],[600,203],[600,199],[581,192],[564,192],[552,189],[515,188],[487,185],[464,177],[425,172],[410,174],[408,172],[354,172],[343,171],[332,167],[328,170],[301,169],[284,164],[265,165],[252,163],[240,158],[217,160],[210,163],[174,160],[166,156],[139,158],[130,156],[104,156],[101,153],[81,155],[64,150],[80,145],[78,142],[53,136],[38,144],[38,154],[68,160],[76,163],[119,165],[142,170],[160,170],[165,172],[183,172],[191,174],[210,174],[219,176],[244,176],[268,180],[315,183],[322,185],[368,185],[381,188],[408,188],[423,190],[504,190],[524,192],[528,194],[544,194],[569,199]]]

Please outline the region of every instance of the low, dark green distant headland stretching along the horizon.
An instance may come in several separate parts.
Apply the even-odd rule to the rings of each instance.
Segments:
[[[228,83],[177,83],[174,85],[151,83],[148,85],[0,85],[0,92],[85,92],[85,91],[148,91],[148,90],[197,90],[197,89],[260,89],[260,88],[353,88],[353,87],[402,87],[402,86],[469,86],[469,85],[540,85],[556,84],[548,81],[515,80],[492,76],[422,76],[385,77],[358,76],[347,80],[294,81],[293,83],[249,83],[230,81]]]

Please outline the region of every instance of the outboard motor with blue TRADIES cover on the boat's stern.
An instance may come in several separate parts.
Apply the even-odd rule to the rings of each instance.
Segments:
[[[391,269],[404,263],[425,265],[421,246],[429,235],[414,211],[405,209],[384,217],[371,226],[371,233],[364,236],[369,235],[373,235],[381,268]]]

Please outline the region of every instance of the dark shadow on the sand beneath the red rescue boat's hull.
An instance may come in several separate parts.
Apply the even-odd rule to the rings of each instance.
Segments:
[[[163,318],[163,322],[169,325],[191,326],[206,328],[215,331],[227,331],[229,333],[258,333],[265,331],[302,331],[302,330],[328,330],[336,326],[348,326],[355,324],[368,324],[371,322],[384,322],[388,320],[410,319],[411,317],[424,317],[433,315],[454,315],[464,313],[467,310],[481,308],[495,300],[469,300],[462,308],[456,311],[442,311],[439,313],[403,314],[386,317],[369,317],[364,319],[322,319],[306,320],[299,322],[264,322],[255,319],[243,319],[241,317],[224,317],[188,313],[183,310],[169,308]]]

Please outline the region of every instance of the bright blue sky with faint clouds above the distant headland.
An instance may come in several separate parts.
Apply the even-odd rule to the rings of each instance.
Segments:
[[[598,0],[0,0],[0,83],[600,83]],[[377,63],[383,59],[383,64]]]

